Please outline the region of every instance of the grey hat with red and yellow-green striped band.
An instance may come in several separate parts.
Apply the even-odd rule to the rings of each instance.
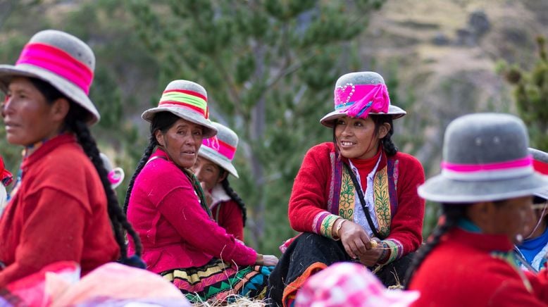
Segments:
[[[163,91],[156,108],[144,111],[141,117],[148,122],[154,114],[170,112],[184,120],[204,127],[204,139],[217,134],[217,128],[209,120],[207,92],[204,87],[192,81],[174,80]]]

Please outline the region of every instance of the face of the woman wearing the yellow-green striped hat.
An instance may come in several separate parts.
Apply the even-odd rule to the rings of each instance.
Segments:
[[[201,125],[187,120],[177,120],[166,133],[156,130],[158,144],[180,168],[191,168],[196,162],[203,139]]]

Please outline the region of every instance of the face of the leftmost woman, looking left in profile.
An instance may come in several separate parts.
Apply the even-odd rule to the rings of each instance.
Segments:
[[[30,146],[56,136],[64,119],[58,111],[58,103],[49,104],[29,79],[14,78],[1,108],[8,142]]]

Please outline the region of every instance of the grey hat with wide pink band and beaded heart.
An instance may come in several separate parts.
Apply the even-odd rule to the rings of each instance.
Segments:
[[[401,118],[406,111],[390,104],[390,96],[381,75],[372,71],[347,73],[335,84],[335,111],[325,115],[320,123],[333,127],[337,118],[367,118],[369,114],[388,114]]]

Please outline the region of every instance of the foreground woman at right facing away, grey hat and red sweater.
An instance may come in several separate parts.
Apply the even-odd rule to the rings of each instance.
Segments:
[[[442,217],[409,268],[413,306],[547,306],[547,271],[524,274],[513,244],[528,232],[533,194],[548,187],[513,115],[464,115],[447,126],[442,173],[418,194]]]

